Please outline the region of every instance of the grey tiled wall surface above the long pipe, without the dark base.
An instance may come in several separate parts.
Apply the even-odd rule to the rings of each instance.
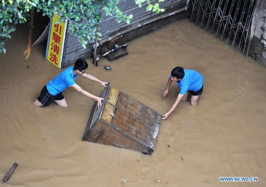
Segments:
[[[156,3],[158,0],[151,1],[151,3]],[[182,8],[185,6],[185,0],[165,0],[160,3],[160,8],[164,8],[166,11],[157,14],[156,12],[146,11],[147,4],[142,5],[142,7],[138,7],[135,4],[134,0],[123,0],[118,3],[118,7],[126,12],[127,15],[133,14],[133,18],[131,19],[130,24],[126,24],[126,22],[118,23],[116,17],[103,14],[103,21],[100,22],[100,33],[102,34],[101,39],[106,39],[111,37],[118,32],[125,30],[129,27],[135,26],[145,20],[152,19],[154,17],[158,17],[159,15],[166,14],[173,10]],[[87,45],[87,49],[84,49],[80,42],[78,42],[77,37],[75,37],[70,29],[67,32],[67,42],[66,42],[66,50],[63,54],[64,62],[62,61],[62,67],[66,67],[74,63],[74,61],[78,58],[88,58],[92,53],[92,45],[93,43],[89,43]]]

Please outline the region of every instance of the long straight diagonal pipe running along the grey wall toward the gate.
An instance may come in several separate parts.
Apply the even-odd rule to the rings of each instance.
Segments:
[[[133,26],[133,27],[130,27],[130,28],[124,30],[124,31],[121,31],[121,32],[117,33],[116,35],[113,35],[113,36],[111,36],[111,37],[108,37],[108,38],[106,38],[106,39],[104,39],[104,40],[100,40],[100,41],[98,41],[98,44],[99,44],[99,45],[103,45],[104,43],[106,43],[106,42],[108,42],[108,41],[110,41],[110,40],[112,40],[112,39],[114,39],[114,38],[116,38],[116,37],[119,37],[119,36],[121,36],[121,35],[123,35],[123,34],[129,32],[129,31],[132,31],[132,30],[134,30],[134,29],[137,29],[137,28],[139,28],[139,27],[142,27],[143,25],[149,24],[149,23],[151,23],[151,22],[157,21],[157,20],[159,20],[159,19],[162,19],[162,18],[165,18],[165,17],[171,16],[171,15],[174,15],[174,14],[176,14],[176,13],[183,12],[183,11],[186,11],[186,10],[187,10],[187,7],[185,6],[185,7],[181,8],[181,9],[175,10],[175,11],[173,11],[173,12],[169,12],[169,13],[167,13],[167,14],[163,14],[163,15],[158,16],[158,17],[155,17],[155,18],[153,18],[153,19],[149,19],[149,20],[147,20],[147,21],[145,21],[145,22],[142,22],[142,23],[140,23],[140,24],[138,24],[138,25],[135,25],[135,26]]]

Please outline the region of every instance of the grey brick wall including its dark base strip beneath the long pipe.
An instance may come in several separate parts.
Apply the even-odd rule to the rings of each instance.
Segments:
[[[158,0],[151,1],[151,3],[156,3]],[[100,22],[100,33],[102,34],[101,39],[106,39],[111,37],[122,30],[125,30],[129,27],[135,26],[145,20],[152,19],[158,17],[162,14],[166,14],[168,12],[172,12],[174,10],[185,7],[186,0],[165,0],[160,3],[160,8],[164,8],[165,12],[156,14],[152,11],[147,12],[147,5],[142,5],[142,7],[138,7],[135,4],[134,0],[123,0],[118,3],[118,7],[122,12],[126,12],[127,15],[133,14],[133,18],[131,19],[130,24],[126,24],[126,22],[117,23],[116,17],[103,15],[103,21]],[[128,42],[133,40],[134,38],[145,35],[149,32],[153,32],[154,30],[165,26],[166,24],[173,22],[177,19],[184,18],[184,12],[181,12],[176,15],[169,16],[167,18],[160,19],[158,21],[152,22],[145,26],[139,27],[129,33],[123,35],[121,42]],[[151,27],[152,26],[152,27]],[[62,67],[67,67],[71,65],[78,58],[89,58],[92,55],[92,45],[93,43],[89,43],[87,48],[84,49],[80,42],[78,42],[77,37],[75,37],[72,31],[67,27],[65,44],[64,44],[64,52],[62,58]],[[104,46],[104,45],[103,45]],[[97,50],[99,53],[100,47]]]

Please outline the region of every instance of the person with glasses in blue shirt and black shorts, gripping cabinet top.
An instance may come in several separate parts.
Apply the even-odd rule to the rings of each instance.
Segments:
[[[75,62],[74,67],[67,68],[66,70],[61,72],[56,78],[48,82],[46,86],[43,87],[40,96],[34,101],[34,104],[36,106],[48,106],[51,102],[54,101],[60,106],[67,106],[67,101],[64,98],[62,91],[64,91],[64,89],[66,89],[67,87],[71,86],[72,88],[80,92],[82,95],[95,99],[98,102],[97,106],[99,108],[101,106],[101,101],[104,99],[94,96],[85,90],[82,90],[82,88],[74,81],[77,75],[80,75],[91,81],[100,83],[102,86],[106,87],[108,83],[100,81],[94,76],[86,74],[85,71],[87,68],[88,64],[86,60],[79,58]]]

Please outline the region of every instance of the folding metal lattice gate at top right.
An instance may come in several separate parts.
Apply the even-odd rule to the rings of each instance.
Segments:
[[[220,36],[231,47],[248,55],[250,27],[256,0],[190,0],[187,19],[205,26],[205,31]]]

